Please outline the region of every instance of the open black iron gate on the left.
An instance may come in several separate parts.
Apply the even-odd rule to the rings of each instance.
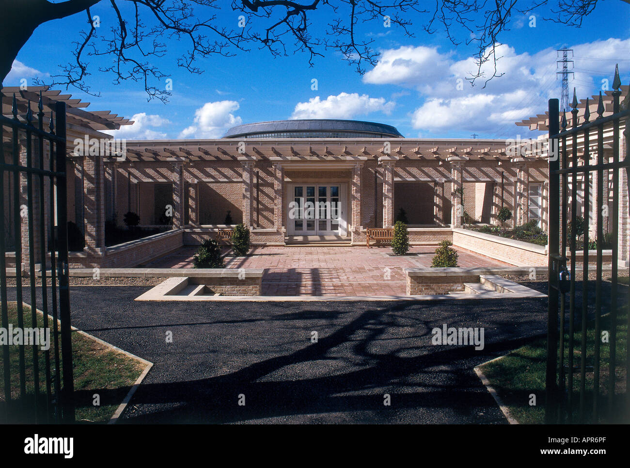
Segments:
[[[0,421],[73,422],[66,103],[47,104],[47,119],[41,93],[37,108],[15,95],[0,98],[13,114],[0,115]]]

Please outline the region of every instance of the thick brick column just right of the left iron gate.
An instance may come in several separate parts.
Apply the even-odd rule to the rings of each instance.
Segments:
[[[105,165],[103,156],[83,158],[83,205],[85,250],[97,254],[105,249]],[[103,249],[103,250],[101,250]]]

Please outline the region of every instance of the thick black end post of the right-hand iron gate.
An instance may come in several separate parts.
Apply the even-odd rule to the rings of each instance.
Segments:
[[[548,252],[548,295],[547,308],[547,368],[545,422],[555,424],[558,418],[558,387],[556,371],[558,366],[558,283],[559,262],[559,223],[560,223],[560,168],[558,138],[560,132],[558,99],[549,100],[549,252]],[[552,146],[553,145],[553,146]],[[551,151],[551,149],[555,151]],[[555,157],[553,156],[555,153]],[[555,173],[554,173],[555,171]],[[564,333],[564,331],[561,331]]]

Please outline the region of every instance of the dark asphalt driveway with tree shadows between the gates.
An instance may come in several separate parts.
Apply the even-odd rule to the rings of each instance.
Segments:
[[[473,368],[546,330],[545,298],[134,302],[147,289],[71,288],[73,325],[154,363],[120,423],[505,423]],[[484,349],[433,345],[443,324]]]

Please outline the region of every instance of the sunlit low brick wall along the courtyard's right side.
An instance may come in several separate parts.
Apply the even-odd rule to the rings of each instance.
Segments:
[[[453,245],[515,266],[546,266],[547,250],[520,240],[507,239],[467,229],[453,229]]]

